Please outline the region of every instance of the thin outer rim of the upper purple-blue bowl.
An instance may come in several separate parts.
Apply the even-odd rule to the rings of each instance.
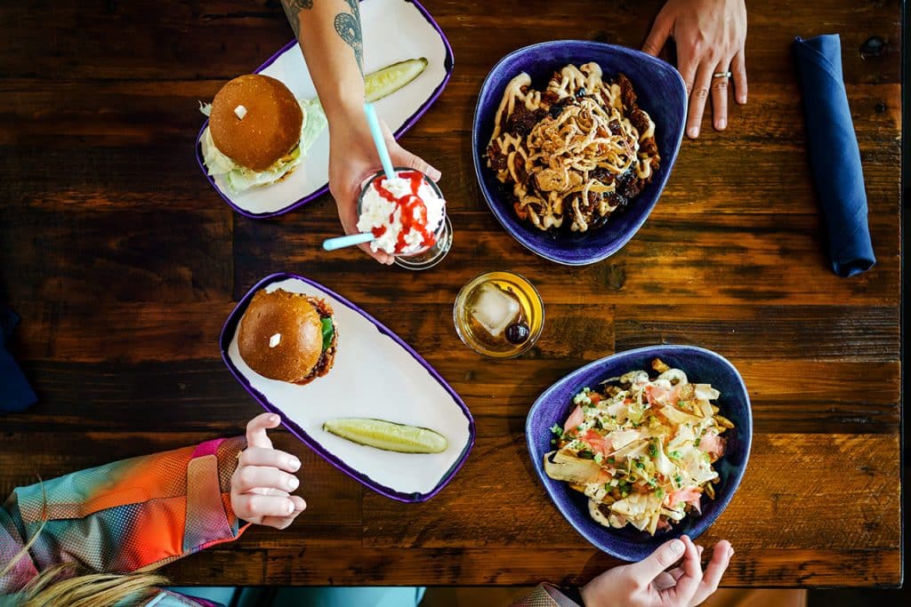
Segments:
[[[642,225],[645,223],[646,219],[648,219],[649,216],[651,215],[651,211],[658,204],[660,195],[659,195],[659,197],[656,197],[655,200],[651,203],[649,212],[643,215],[643,217],[638,222],[638,224],[635,226],[635,228],[630,230],[629,236],[627,238],[624,238],[622,240],[622,242],[619,242],[617,244],[616,248],[611,248],[606,253],[599,253],[599,255],[597,255],[597,256],[588,257],[588,258],[578,260],[578,261],[570,261],[568,259],[558,258],[557,256],[550,255],[541,250],[538,250],[531,243],[526,242],[525,238],[522,238],[519,234],[517,234],[517,231],[515,230],[515,228],[513,228],[509,224],[509,222],[507,222],[506,218],[501,217],[501,210],[499,208],[497,208],[496,205],[490,200],[490,198],[486,194],[485,188],[482,186],[482,184],[484,183],[484,176],[482,174],[482,171],[484,170],[484,168],[481,167],[480,155],[478,154],[478,151],[477,151],[478,142],[477,142],[476,125],[477,125],[477,121],[478,121],[478,114],[481,111],[481,92],[485,90],[487,83],[490,81],[490,78],[491,78],[491,76],[493,76],[494,72],[496,71],[496,68],[503,65],[508,60],[512,59],[514,56],[517,56],[520,53],[527,53],[528,51],[531,51],[536,48],[544,48],[544,47],[548,47],[548,46],[561,46],[561,45],[567,45],[567,44],[602,47],[604,49],[619,51],[624,54],[629,53],[631,55],[640,56],[641,59],[643,59],[643,60],[647,61],[648,63],[651,63],[655,66],[659,66],[661,69],[670,67],[672,72],[677,75],[677,80],[679,81],[679,84],[684,91],[686,90],[686,86],[684,85],[683,78],[680,76],[680,73],[677,71],[677,69],[674,68],[674,66],[671,66],[667,61],[664,61],[663,59],[659,59],[658,57],[650,56],[635,48],[630,48],[629,46],[609,45],[607,43],[596,42],[594,40],[572,40],[572,39],[548,40],[547,42],[538,42],[534,45],[522,46],[521,48],[517,48],[513,52],[507,54],[502,59],[497,61],[496,64],[490,68],[490,71],[487,72],[487,76],[484,78],[484,82],[481,84],[481,88],[478,91],[477,101],[475,104],[475,112],[472,116],[472,129],[471,129],[471,156],[472,156],[472,160],[475,165],[475,177],[478,182],[478,187],[481,190],[481,194],[484,196],[484,200],[487,203],[487,207],[490,208],[490,212],[494,215],[496,220],[500,223],[500,226],[502,226],[511,237],[515,238],[520,245],[527,248],[529,251],[531,251],[538,257],[548,259],[548,261],[553,261],[554,263],[558,263],[563,266],[581,267],[581,266],[589,266],[591,264],[598,263],[599,261],[603,261],[604,259],[607,259],[611,255],[614,255],[615,253],[617,253],[621,248],[626,247],[626,245],[630,242],[630,240],[632,240],[632,238],[635,237],[637,233],[639,233],[640,228],[642,228]],[[685,119],[686,119],[686,117],[684,116],[684,120]],[[673,168],[674,164],[677,162],[677,157],[680,154],[681,143],[683,141],[683,131],[684,131],[684,128],[681,127],[680,135],[677,137],[677,145],[674,146],[673,153],[670,155],[670,161],[666,165],[662,164],[662,166],[661,166],[662,169],[664,167],[670,167],[670,168],[668,170],[660,171],[662,174],[659,177],[660,182],[658,183],[660,190],[663,190],[664,187],[667,185],[668,179],[670,179],[670,169]],[[654,183],[654,182],[652,182],[652,183]]]

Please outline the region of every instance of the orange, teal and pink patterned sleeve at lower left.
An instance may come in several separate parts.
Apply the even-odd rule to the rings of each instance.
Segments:
[[[0,570],[47,522],[0,594],[61,562],[135,572],[236,539],[246,526],[230,507],[230,477],[245,446],[209,440],[15,489],[0,508]]]

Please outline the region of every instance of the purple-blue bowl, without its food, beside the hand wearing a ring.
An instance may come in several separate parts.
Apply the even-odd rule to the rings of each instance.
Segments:
[[[568,64],[579,66],[590,61],[601,66],[605,78],[619,72],[630,78],[640,107],[655,123],[661,167],[630,207],[611,216],[605,227],[583,235],[542,232],[516,217],[502,193],[502,184],[486,166],[487,142],[494,130],[496,109],[509,81],[522,72],[527,72],[532,86],[540,89],[555,71]],[[542,258],[567,266],[585,266],[608,258],[629,242],[658,202],[681,147],[686,107],[686,87],[677,70],[640,51],[584,40],[556,40],[520,48],[490,70],[477,97],[472,148],[477,181],[487,205],[507,232]]]

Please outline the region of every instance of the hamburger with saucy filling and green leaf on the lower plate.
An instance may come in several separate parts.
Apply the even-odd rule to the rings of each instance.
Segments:
[[[320,298],[275,289],[257,291],[238,329],[241,358],[269,379],[307,384],[333,368],[338,331]]]

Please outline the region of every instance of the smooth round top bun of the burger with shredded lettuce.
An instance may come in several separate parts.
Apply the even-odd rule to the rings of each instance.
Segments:
[[[235,113],[244,106],[241,119]],[[241,111],[242,114],[242,111]],[[301,140],[303,112],[292,92],[270,76],[238,76],[212,100],[209,128],[215,147],[242,167],[263,171]]]

